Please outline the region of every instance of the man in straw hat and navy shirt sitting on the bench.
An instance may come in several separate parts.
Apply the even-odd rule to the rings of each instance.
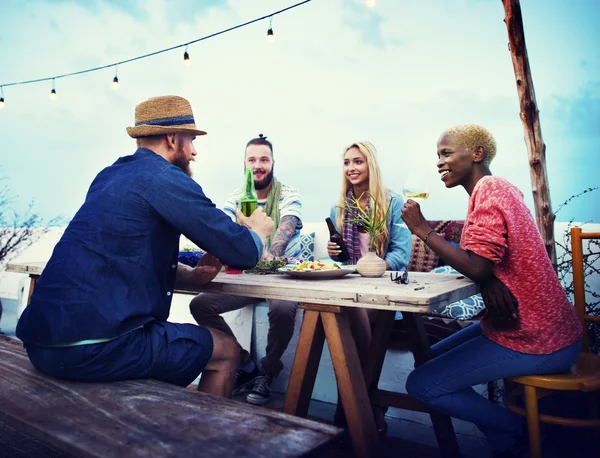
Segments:
[[[235,224],[191,179],[196,128],[189,102],[153,97],[127,133],[137,150],[92,182],[17,325],[31,363],[66,380],[154,378],[230,396],[239,365],[231,337],[167,321],[175,282],[212,281],[221,261],[256,265],[273,221],[262,210]],[[247,227],[244,227],[247,226]],[[252,228],[253,230],[249,230]],[[206,254],[177,263],[181,234]]]

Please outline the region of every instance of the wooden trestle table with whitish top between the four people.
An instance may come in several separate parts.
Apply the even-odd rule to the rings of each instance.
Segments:
[[[9,264],[7,270],[28,273],[33,286],[43,266],[43,263]],[[478,291],[477,285],[457,275],[410,272],[409,280],[408,285],[403,285],[391,282],[388,274],[381,278],[352,274],[337,279],[304,280],[286,275],[220,273],[207,285],[189,286],[177,292],[211,292],[300,302],[304,309],[304,321],[285,396],[284,412],[303,417],[307,415],[326,340],[356,455],[377,457],[379,438],[371,401],[428,412],[424,405],[406,394],[377,388],[395,312],[403,313],[415,362],[419,365],[432,356],[420,314],[435,313],[445,305]],[[370,356],[364,372],[345,313],[348,307],[381,311],[373,330]],[[401,383],[403,381],[399,380],[398,384]],[[442,455],[460,456],[450,418],[433,412],[430,415]]]

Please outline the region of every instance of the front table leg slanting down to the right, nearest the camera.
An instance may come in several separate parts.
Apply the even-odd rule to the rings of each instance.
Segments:
[[[377,457],[379,437],[348,316],[322,311],[321,319],[355,454]]]

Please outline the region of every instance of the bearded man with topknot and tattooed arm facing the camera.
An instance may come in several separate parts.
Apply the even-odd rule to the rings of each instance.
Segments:
[[[279,256],[299,255],[298,236],[302,228],[302,198],[298,191],[280,183],[273,175],[275,160],[273,145],[262,134],[246,144],[244,167],[254,174],[254,188],[258,196],[258,208],[273,219],[275,224],[267,240],[265,259]],[[234,191],[225,204],[224,211],[233,220],[239,214],[242,189]],[[260,299],[220,294],[201,293],[190,303],[190,311],[201,326],[218,329],[235,338],[222,313],[238,310]],[[266,404],[271,397],[274,378],[283,369],[281,357],[294,334],[297,302],[268,299],[269,331],[266,355],[260,361],[260,370],[247,350],[241,352],[241,364],[235,374],[233,395],[248,392],[246,400],[251,404]]]

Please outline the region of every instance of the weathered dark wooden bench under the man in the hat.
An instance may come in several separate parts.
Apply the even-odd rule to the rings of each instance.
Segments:
[[[319,456],[342,433],[155,380],[54,379],[34,369],[21,342],[6,336],[0,336],[0,422],[86,458]]]

